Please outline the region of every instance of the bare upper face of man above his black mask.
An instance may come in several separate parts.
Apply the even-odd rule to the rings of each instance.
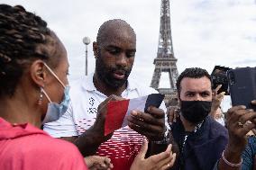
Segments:
[[[212,88],[209,78],[185,77],[180,82],[179,100],[181,101],[212,101]]]

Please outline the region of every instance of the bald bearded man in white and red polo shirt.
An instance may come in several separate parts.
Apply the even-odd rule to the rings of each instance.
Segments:
[[[105,105],[109,100],[120,100],[116,96],[130,99],[158,92],[128,79],[136,52],[136,34],[127,22],[119,19],[104,22],[93,49],[95,73],[71,84],[68,111],[59,121],[47,123],[44,130],[55,138],[72,141],[85,157],[109,157],[114,169],[128,170],[143,138],[164,139],[165,106],[161,104],[163,110],[151,107],[148,113],[132,112],[128,126],[104,136]]]

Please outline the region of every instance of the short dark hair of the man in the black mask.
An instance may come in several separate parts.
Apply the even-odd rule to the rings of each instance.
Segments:
[[[212,78],[209,75],[209,73],[206,71],[206,69],[200,68],[200,67],[189,67],[186,68],[179,76],[176,82],[176,86],[177,86],[177,90],[178,90],[178,96],[180,94],[181,91],[181,80],[183,78],[201,78],[203,76],[206,76],[207,78],[209,78],[210,82],[211,82],[211,86],[212,86]]]

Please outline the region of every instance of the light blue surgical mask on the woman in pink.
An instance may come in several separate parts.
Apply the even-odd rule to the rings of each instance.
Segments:
[[[64,85],[60,80],[59,77],[55,75],[55,73],[48,67],[46,64],[44,64],[45,67],[47,67],[50,71],[50,73],[57,78],[59,83],[64,87],[64,96],[61,101],[61,103],[54,103],[50,101],[49,95],[43,90],[42,93],[46,96],[46,98],[49,100],[50,103],[48,103],[48,108],[46,115],[42,121],[42,124],[50,122],[50,121],[57,121],[59,118],[68,110],[70,97],[69,97],[69,85]]]

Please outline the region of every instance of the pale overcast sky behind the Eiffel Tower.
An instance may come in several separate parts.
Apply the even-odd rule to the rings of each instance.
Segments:
[[[160,0],[0,0],[22,4],[39,14],[63,41],[69,55],[70,79],[85,74],[83,37],[96,40],[99,26],[109,19],[130,23],[137,34],[132,75],[151,84],[160,29]],[[170,0],[171,31],[178,72],[215,65],[256,66],[256,0]],[[92,43],[88,71],[95,69]],[[165,87],[167,75],[163,75]],[[167,86],[168,87],[168,86]]]

